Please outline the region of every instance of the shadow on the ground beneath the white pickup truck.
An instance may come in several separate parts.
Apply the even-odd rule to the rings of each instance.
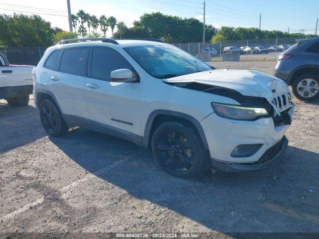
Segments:
[[[3,102],[0,102],[0,153],[47,135],[44,130],[34,130],[41,125],[34,106],[10,107]]]

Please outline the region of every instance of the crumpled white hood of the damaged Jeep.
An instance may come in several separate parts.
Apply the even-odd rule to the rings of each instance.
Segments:
[[[168,83],[196,82],[235,90],[244,96],[263,97],[270,104],[276,95],[287,94],[288,85],[281,79],[252,70],[215,69],[163,79]],[[274,91],[275,90],[275,91]]]

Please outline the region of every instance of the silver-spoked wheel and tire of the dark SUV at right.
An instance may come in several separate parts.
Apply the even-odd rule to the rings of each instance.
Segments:
[[[301,101],[315,101],[319,98],[319,76],[305,74],[293,83],[293,93]]]

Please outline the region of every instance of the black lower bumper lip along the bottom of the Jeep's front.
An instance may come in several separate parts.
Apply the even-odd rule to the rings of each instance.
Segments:
[[[224,172],[253,171],[269,167],[269,164],[276,160],[288,146],[288,139],[284,136],[278,143],[270,147],[256,162],[252,163],[229,163],[211,159],[212,167]]]

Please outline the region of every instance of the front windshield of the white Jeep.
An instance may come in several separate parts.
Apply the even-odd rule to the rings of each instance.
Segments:
[[[124,50],[151,76],[165,79],[213,69],[171,45],[127,47]]]

